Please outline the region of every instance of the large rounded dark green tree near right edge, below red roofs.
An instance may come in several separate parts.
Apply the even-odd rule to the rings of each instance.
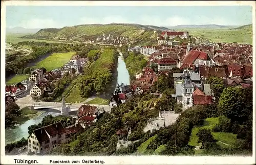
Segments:
[[[234,121],[241,121],[245,107],[246,96],[241,88],[228,87],[224,89],[218,103],[218,114]]]

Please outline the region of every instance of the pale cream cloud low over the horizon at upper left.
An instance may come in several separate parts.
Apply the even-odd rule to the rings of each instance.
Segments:
[[[21,21],[17,26],[28,29],[44,29],[44,28],[63,28],[65,26],[61,22],[54,21],[53,19],[29,19]]]

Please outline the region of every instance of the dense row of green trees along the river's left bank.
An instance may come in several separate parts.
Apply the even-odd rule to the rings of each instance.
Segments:
[[[84,76],[79,80],[81,97],[88,97],[94,91],[99,94],[105,90],[113,78],[112,71],[116,66],[118,52],[113,48],[105,48],[102,52],[91,50],[88,56],[98,59],[84,69]]]

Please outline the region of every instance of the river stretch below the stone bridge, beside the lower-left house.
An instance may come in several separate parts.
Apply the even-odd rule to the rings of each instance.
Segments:
[[[52,115],[52,116],[60,115],[60,113],[49,112],[50,109],[48,109],[48,108],[44,109],[42,111],[44,111],[42,114],[26,121],[22,125],[18,125],[15,129],[5,129],[5,143],[8,144],[8,143],[18,141],[18,140],[22,139],[22,137],[27,138],[29,136],[28,127],[33,125],[33,124],[40,123],[45,116],[47,116],[47,115]]]

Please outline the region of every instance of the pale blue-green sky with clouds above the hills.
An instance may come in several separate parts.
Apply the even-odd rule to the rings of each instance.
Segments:
[[[6,27],[63,28],[79,24],[138,23],[245,25],[251,6],[6,6]]]

